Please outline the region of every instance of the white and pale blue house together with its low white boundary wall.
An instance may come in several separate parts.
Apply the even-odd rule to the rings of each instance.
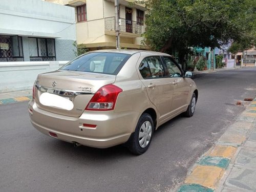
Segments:
[[[75,58],[72,7],[41,0],[0,1],[0,93],[32,89],[39,73]]]

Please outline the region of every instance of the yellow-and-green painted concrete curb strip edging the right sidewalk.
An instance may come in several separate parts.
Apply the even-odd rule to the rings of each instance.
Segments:
[[[190,169],[181,191],[222,191],[234,161],[256,127],[256,99]],[[256,148],[256,147],[255,147]],[[255,182],[256,183],[256,182]],[[255,184],[254,183],[254,184]],[[228,191],[228,190],[227,190]],[[236,191],[242,191],[241,188]]]

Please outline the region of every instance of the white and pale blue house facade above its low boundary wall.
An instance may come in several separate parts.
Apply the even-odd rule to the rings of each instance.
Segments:
[[[0,62],[73,59],[75,23],[71,7],[40,0],[1,0]]]

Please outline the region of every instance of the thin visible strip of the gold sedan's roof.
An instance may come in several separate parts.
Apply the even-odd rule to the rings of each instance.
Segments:
[[[164,56],[170,56],[166,53],[156,52],[156,51],[147,51],[147,50],[133,50],[133,49],[105,49],[105,50],[96,50],[96,51],[90,51],[91,52],[110,52],[110,53],[124,53],[124,54],[130,54],[133,55],[135,53],[141,53],[141,54],[152,54],[152,55],[164,55]]]

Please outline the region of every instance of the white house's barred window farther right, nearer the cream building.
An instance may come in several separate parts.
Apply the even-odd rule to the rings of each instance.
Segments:
[[[29,38],[30,61],[54,61],[55,41],[48,38]]]

